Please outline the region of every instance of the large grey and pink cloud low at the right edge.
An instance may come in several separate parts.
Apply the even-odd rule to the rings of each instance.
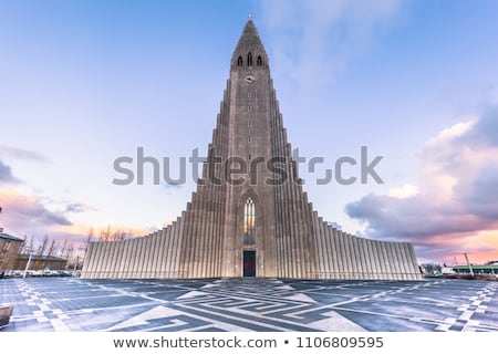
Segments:
[[[477,241],[480,232],[498,230],[497,122],[498,110],[487,110],[443,129],[418,155],[416,186],[367,195],[347,204],[346,214],[365,225],[365,236],[414,242],[424,258],[483,247],[498,252],[491,238]]]

